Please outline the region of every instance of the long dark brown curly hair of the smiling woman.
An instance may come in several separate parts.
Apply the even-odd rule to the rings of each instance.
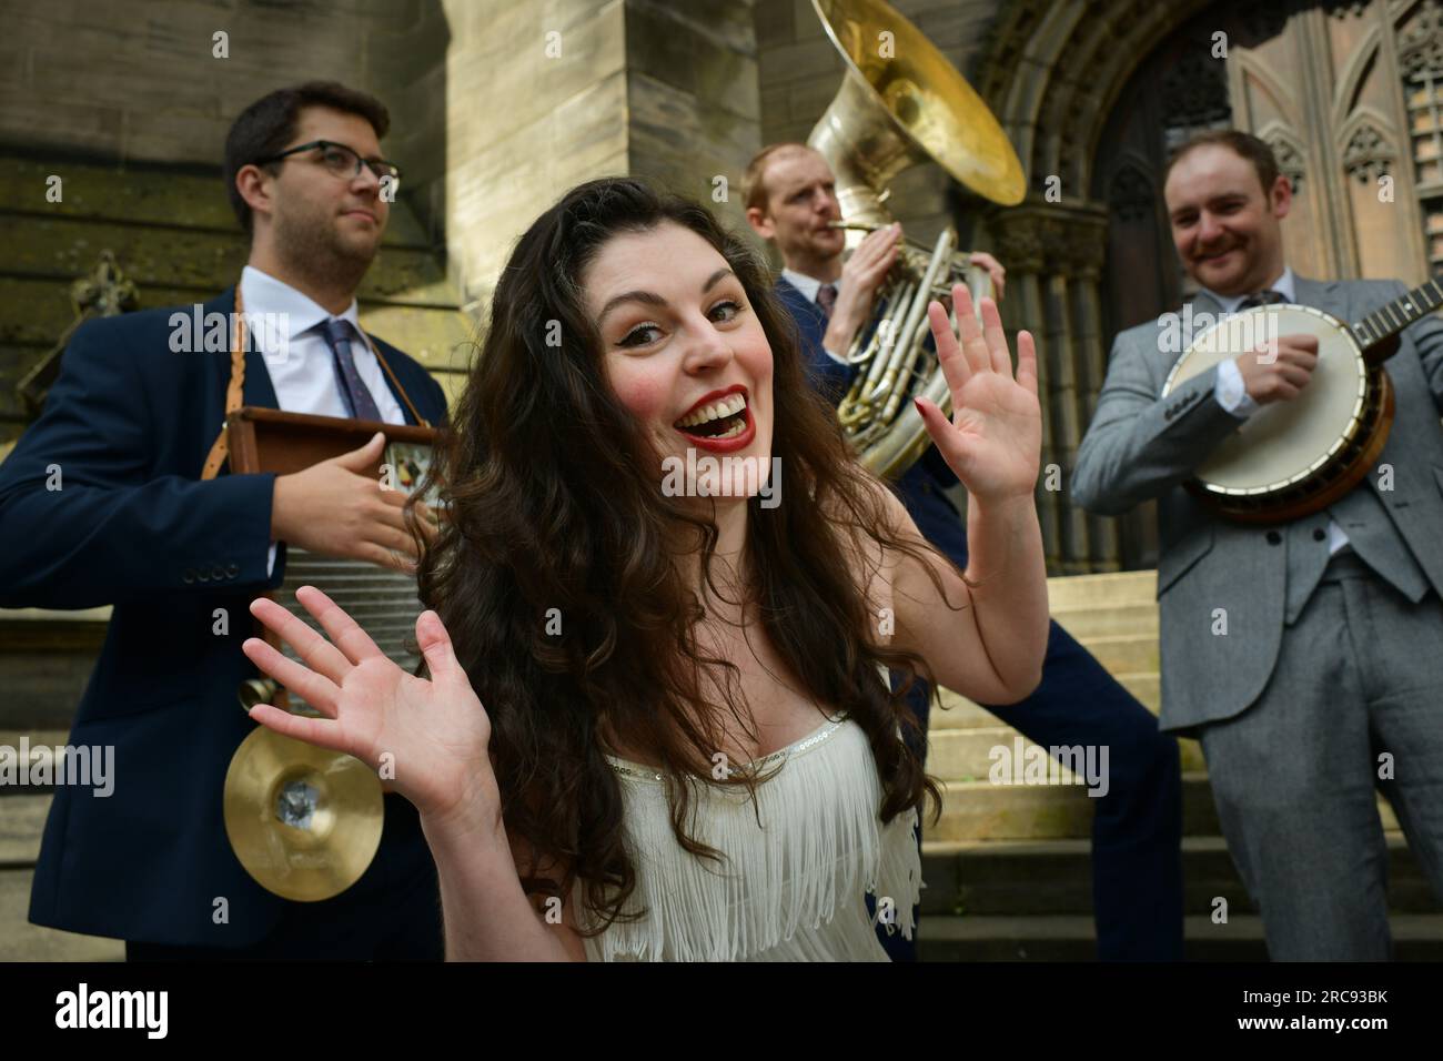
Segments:
[[[491,717],[508,836],[530,846],[534,866],[564,868],[561,879],[530,873],[524,886],[569,895],[580,883],[586,921],[599,925],[590,931],[620,914],[636,883],[605,733],[668,778],[756,782],[745,771],[711,780],[724,717],[755,739],[740,696],[703,694],[703,673],[726,674],[730,690],[739,671],[698,648],[703,608],[677,557],[693,536],[719,592],[716,525],[696,498],[662,492],[661,455],[606,381],[582,289],[610,238],[667,222],[726,258],[772,348],[772,455],[786,488],[769,498],[775,508],[745,502],[747,614],[801,689],[867,733],[883,821],[921,808],[925,794],[941,803],[898,739],[899,725],[915,746],[925,739],[905,702],[925,665],[874,642],[879,616],[854,562],[866,538],[912,556],[929,547],[889,530],[877,481],[807,383],[795,326],[750,248],[706,208],[641,180],[583,183],[527,230],[501,274],[481,357],[433,458],[449,518],[421,557],[420,592]],[[879,664],[906,676],[898,693]],[[691,787],[670,785],[672,829],[694,856],[722,857],[688,836]]]

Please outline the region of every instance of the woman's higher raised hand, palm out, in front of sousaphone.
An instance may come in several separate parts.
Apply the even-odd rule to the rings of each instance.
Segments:
[[[983,299],[977,323],[967,287],[952,287],[958,335],[939,302],[926,307],[938,359],[952,396],[952,419],[916,398],[928,435],[968,495],[983,504],[1032,497],[1042,459],[1042,407],[1038,403],[1038,351],[1030,332],[1017,332],[1017,375],[997,303]]]

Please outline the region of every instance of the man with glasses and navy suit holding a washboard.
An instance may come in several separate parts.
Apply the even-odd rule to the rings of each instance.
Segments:
[[[388,211],[387,126],[374,98],[312,82],[267,95],[232,127],[225,172],[253,235],[245,309],[284,307],[297,332],[281,318],[248,344],[242,404],[444,422],[439,384],[377,341],[392,380],[355,322],[354,292]],[[235,293],[205,303],[201,319],[229,320]],[[372,865],[332,899],[273,895],[227,840],[227,767],[255,729],[237,699],[257,676],[241,652],[254,634],[248,603],[280,585],[286,541],[356,557],[416,549],[397,501],[356,473],[378,439],[291,476],[227,468],[202,481],[231,355],[186,332],[193,309],[81,326],[45,411],[0,465],[0,605],[113,606],[69,741],[114,748],[114,791],[56,787],[30,921],[123,938],[133,960],[440,959],[436,869],[400,795],[385,795]],[[289,341],[284,357],[267,346],[277,339]]]

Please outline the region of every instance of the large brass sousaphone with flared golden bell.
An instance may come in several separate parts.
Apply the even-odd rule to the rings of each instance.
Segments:
[[[847,74],[807,144],[837,178],[848,247],[863,231],[892,224],[883,206],[892,180],[924,162],[991,202],[1022,202],[1022,162],[1001,126],[911,22],[882,0],[812,0],[812,7]],[[859,459],[880,476],[900,475],[929,445],[913,397],[951,411],[941,365],[925,349],[926,303],[949,306],[954,283],[967,283],[974,302],[991,292],[986,270],[967,257],[951,228],[932,247],[906,243],[847,352],[859,372],[837,417]]]

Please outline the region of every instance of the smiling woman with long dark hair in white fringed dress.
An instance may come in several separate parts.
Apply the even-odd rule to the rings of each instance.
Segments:
[[[996,306],[984,335],[954,293],[961,345],[935,306],[960,411],[925,416],[974,489],[964,583],[851,459],[769,287],[704,208],[573,189],[517,244],[431,469],[450,521],[421,563],[427,677],[316,590],[329,642],[254,608],[310,668],[250,657],[330,716],[254,717],[392,756],[452,957],[885,960],[864,895],[911,934],[912,827],[939,798],[886,668],[994,703],[1036,686],[1030,338],[1013,380]],[[696,447],[775,459],[788,489],[664,491]]]

